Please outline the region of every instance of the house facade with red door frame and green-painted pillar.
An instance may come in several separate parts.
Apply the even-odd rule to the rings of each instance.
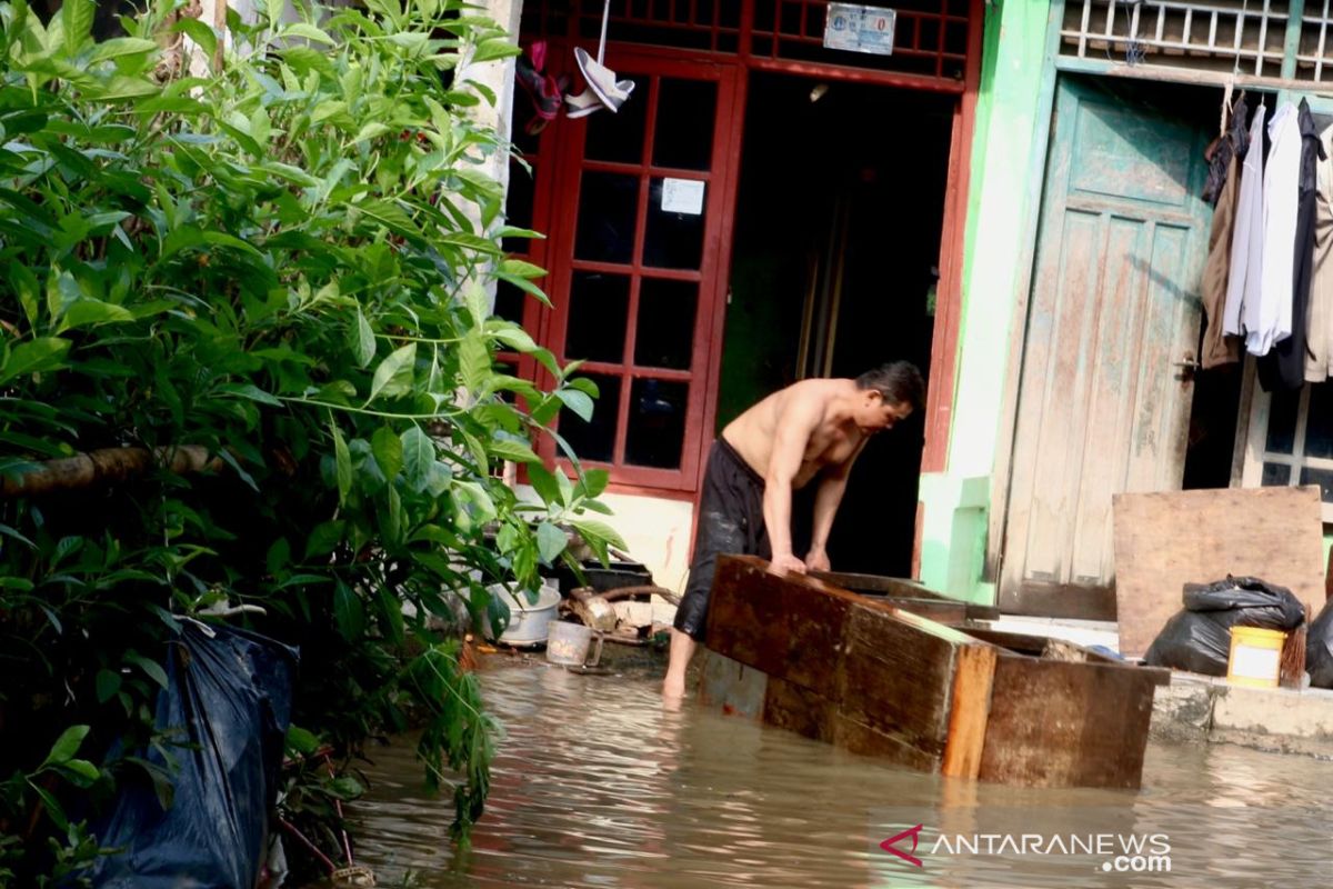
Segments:
[[[1108,617],[1113,493],[1328,477],[1333,501],[1322,385],[1196,367],[1224,93],[1320,111],[1324,4],[920,0],[888,55],[828,37],[829,5],[613,0],[619,112],[543,125],[515,93],[509,217],[548,237],[512,249],[555,307],[497,311],[585,361],[596,413],[559,433],[659,582],[730,417],[894,359],[928,404],[858,461],[838,570]],[[528,0],[529,61],[580,89],[603,9]]]

